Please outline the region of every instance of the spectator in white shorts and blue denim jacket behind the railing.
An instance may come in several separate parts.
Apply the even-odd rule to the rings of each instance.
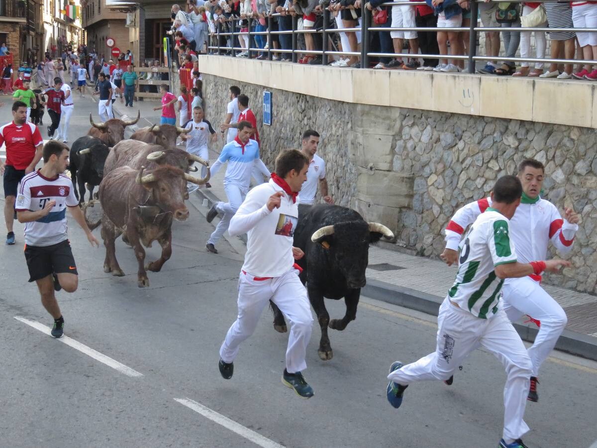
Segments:
[[[438,15],[438,28],[457,28],[462,24],[462,8],[456,0],[426,0],[427,5],[433,7]],[[461,54],[460,36],[457,31],[438,31],[439,54],[448,54],[448,44],[450,42],[450,53],[452,55]],[[438,66],[433,69],[434,72],[460,72],[457,66],[457,60],[452,62],[447,58],[439,60]]]

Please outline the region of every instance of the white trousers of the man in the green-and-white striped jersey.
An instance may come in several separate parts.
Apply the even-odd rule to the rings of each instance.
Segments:
[[[522,419],[527,406],[531,360],[503,309],[490,319],[479,319],[445,299],[439,307],[435,352],[390,373],[390,381],[446,380],[478,345],[493,352],[506,369],[504,439],[521,438],[529,430]]]

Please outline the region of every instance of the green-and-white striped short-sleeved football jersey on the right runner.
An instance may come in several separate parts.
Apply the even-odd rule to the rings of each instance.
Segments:
[[[497,210],[487,208],[470,227],[459,249],[458,274],[448,297],[476,317],[491,318],[498,310],[504,283],[494,269],[516,262],[509,220]]]

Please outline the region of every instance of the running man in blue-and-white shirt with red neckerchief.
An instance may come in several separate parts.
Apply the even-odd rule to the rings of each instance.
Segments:
[[[224,235],[224,232],[230,225],[230,219],[241,206],[242,201],[249,191],[251,182],[251,171],[253,166],[257,167],[264,176],[271,174],[266,165],[259,158],[259,145],[249,136],[253,132],[253,127],[248,121],[241,121],[238,124],[238,135],[232,142],[227,143],[222,149],[220,157],[211,167],[211,176],[215,176],[220,170],[221,165],[228,162],[226,175],[224,176],[224,191],[228,202],[217,202],[207,213],[207,222],[212,222],[218,213],[224,216],[216,226],[216,230],[210,235],[205,247],[211,253],[218,253],[216,249],[217,241]]]

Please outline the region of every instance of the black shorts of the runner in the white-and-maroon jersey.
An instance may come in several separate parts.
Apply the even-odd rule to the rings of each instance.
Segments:
[[[53,272],[78,275],[75,257],[69,240],[52,246],[25,246],[25,259],[29,268],[29,281],[41,280]]]

